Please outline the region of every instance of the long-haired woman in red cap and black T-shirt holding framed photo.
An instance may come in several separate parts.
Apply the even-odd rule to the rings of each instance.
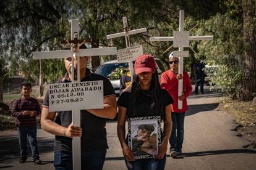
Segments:
[[[165,89],[161,89],[156,71],[155,59],[149,54],[140,55],[135,60],[135,75],[129,89],[119,97],[117,136],[128,169],[164,169],[168,140],[171,135],[171,103],[173,99]],[[125,139],[126,119],[145,116],[161,116],[161,143],[155,158],[135,159],[135,154]],[[158,124],[161,127],[161,124]]]

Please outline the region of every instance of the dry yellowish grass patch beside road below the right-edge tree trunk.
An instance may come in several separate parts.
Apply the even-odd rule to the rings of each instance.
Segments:
[[[243,127],[256,125],[256,105],[253,105],[252,102],[242,102],[224,97],[222,103],[224,110],[233,113],[236,123]]]

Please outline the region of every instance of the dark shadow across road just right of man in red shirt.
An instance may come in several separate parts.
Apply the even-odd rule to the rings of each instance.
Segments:
[[[200,104],[200,105],[189,105],[189,110],[186,111],[186,116],[194,115],[201,111],[210,111],[217,108],[219,103]]]

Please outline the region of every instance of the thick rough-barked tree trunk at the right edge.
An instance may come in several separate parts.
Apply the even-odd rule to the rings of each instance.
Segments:
[[[242,73],[239,99],[249,101],[256,89],[256,20],[255,0],[243,0],[244,11],[244,71]]]

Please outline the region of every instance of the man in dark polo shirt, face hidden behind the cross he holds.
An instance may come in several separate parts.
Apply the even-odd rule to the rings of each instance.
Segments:
[[[85,46],[81,46],[80,49]],[[77,57],[74,57],[74,63]],[[70,83],[72,79],[71,57],[64,59],[67,70],[59,83]],[[80,81],[103,80],[104,108],[81,110],[81,127],[72,124],[71,111],[49,112],[49,93],[45,95],[41,113],[41,127],[56,135],[54,140],[54,166],[56,169],[72,169],[72,138],[81,137],[82,169],[103,169],[108,144],[106,141],[106,119],[117,113],[116,95],[109,79],[96,75],[86,68],[88,56],[80,57]]]

